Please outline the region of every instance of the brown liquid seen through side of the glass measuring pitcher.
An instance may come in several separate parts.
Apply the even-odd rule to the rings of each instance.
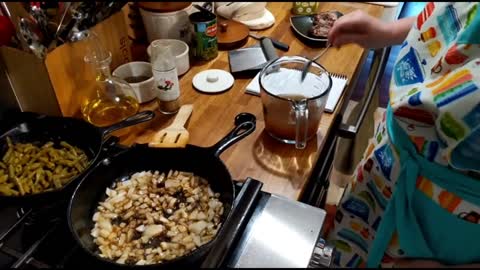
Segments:
[[[305,99],[301,95],[281,95],[294,101]],[[276,99],[271,96],[268,102],[263,104],[265,117],[265,129],[275,137],[284,140],[295,140],[296,124],[295,110],[292,103],[286,100]],[[308,101],[308,128],[307,138],[312,138],[318,131],[323,107],[321,100]]]

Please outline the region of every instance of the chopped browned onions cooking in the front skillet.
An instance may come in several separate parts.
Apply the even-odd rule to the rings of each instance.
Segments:
[[[99,255],[120,264],[158,264],[211,241],[224,208],[207,180],[189,172],[142,171],[107,188],[91,231]]]

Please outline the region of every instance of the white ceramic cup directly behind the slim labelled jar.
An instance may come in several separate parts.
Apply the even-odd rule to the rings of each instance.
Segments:
[[[175,55],[178,76],[185,74],[190,69],[190,56],[188,44],[178,39],[157,39],[147,48],[148,57],[151,59],[152,44],[170,46]]]

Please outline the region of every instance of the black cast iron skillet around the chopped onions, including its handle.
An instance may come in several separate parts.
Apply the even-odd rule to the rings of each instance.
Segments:
[[[96,258],[102,267],[173,267],[188,266],[199,262],[206,255],[214,240],[197,248],[193,252],[174,260],[151,265],[117,264],[98,256],[97,245],[90,235],[94,223],[93,214],[100,201],[105,200],[105,191],[117,181],[125,181],[132,174],[141,171],[169,170],[192,172],[206,179],[213,192],[220,193],[224,205],[221,218],[224,224],[232,209],[235,197],[234,183],[228,169],[219,155],[235,142],[248,136],[255,130],[256,118],[250,113],[241,113],[235,118],[235,128],[215,145],[203,148],[187,145],[185,148],[149,148],[136,145],[123,152],[104,159],[93,168],[74,191],[68,208],[68,225],[75,240],[89,256]]]

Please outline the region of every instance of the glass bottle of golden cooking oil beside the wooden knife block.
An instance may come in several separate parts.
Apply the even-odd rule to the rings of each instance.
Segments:
[[[136,114],[140,106],[132,87],[123,79],[112,76],[111,52],[105,50],[93,32],[88,39],[84,60],[93,66],[96,78],[95,89],[81,104],[82,115],[95,126],[110,126]]]

